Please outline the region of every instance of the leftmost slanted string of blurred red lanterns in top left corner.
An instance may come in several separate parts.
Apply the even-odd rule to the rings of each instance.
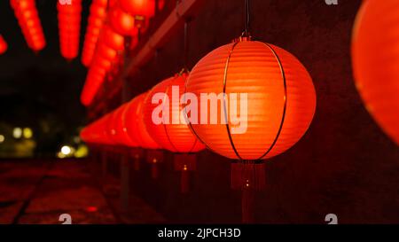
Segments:
[[[46,41],[35,0],[11,0],[10,3],[29,48],[33,51],[43,50]]]

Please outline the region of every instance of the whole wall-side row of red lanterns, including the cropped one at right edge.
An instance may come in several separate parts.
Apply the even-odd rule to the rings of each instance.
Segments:
[[[399,3],[395,0],[387,0],[384,4],[379,2],[369,0],[362,5],[354,30],[352,59],[356,87],[368,111],[398,143],[399,116],[396,110],[399,102],[395,92],[399,86],[395,65],[399,55],[395,50],[399,41],[394,20],[399,20],[395,17],[399,16],[396,14]],[[378,16],[383,16],[383,27],[374,23]],[[371,51],[381,43],[390,43],[389,51]],[[187,106],[182,105],[177,106],[178,111],[184,111],[188,122],[185,126],[174,126],[170,122],[154,123],[153,111],[156,108],[162,111],[171,108],[165,108],[169,105],[168,102],[164,104],[166,98],[160,97],[163,100],[161,107],[153,104],[154,95],[164,93],[168,97],[174,85],[195,97],[223,90],[218,111],[213,113],[207,108],[205,116],[217,115],[225,123],[192,121],[192,113],[189,116]],[[387,95],[387,87],[391,95]],[[233,132],[238,128],[237,120],[227,114],[231,94],[246,95],[246,102],[240,103],[245,108],[235,113],[236,117],[247,117],[246,130],[242,133]],[[286,152],[298,142],[309,128],[315,110],[316,92],[301,62],[278,46],[253,41],[246,29],[234,43],[223,45],[200,59],[190,74],[177,74],[160,82],[149,92],[95,121],[83,129],[82,138],[89,143],[161,148],[182,153],[198,152],[207,146],[213,152],[239,160],[237,166],[231,168],[231,177],[234,174],[239,178],[231,182],[234,188],[243,192],[243,220],[250,222],[253,220],[250,211],[252,193],[264,186],[260,181],[264,178],[264,171],[259,169],[263,167],[258,164]],[[197,111],[198,116],[202,116],[200,112],[204,110],[198,108]]]

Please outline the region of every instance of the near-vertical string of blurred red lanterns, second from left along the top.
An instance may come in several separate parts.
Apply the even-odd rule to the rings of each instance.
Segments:
[[[70,0],[68,4],[57,2],[59,12],[59,43],[61,55],[68,60],[77,57],[81,30],[82,0]]]

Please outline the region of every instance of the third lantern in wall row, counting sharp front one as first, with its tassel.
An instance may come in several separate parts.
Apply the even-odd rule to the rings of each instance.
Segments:
[[[163,159],[163,153],[159,151],[160,145],[145,129],[144,101],[148,93],[143,93],[133,98],[127,105],[125,113],[126,129],[129,136],[142,148],[147,149],[146,161],[152,164],[152,176],[158,177],[157,164]]]

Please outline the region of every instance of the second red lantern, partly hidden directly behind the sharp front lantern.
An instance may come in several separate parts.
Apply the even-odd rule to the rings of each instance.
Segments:
[[[181,117],[183,105],[180,97],[184,94],[184,83],[188,74],[176,74],[153,87],[145,99],[145,127],[160,147],[170,152],[200,152],[205,149],[197,137],[192,134],[188,124]],[[178,97],[172,98],[172,90],[178,89]],[[158,94],[160,103],[153,104],[152,98]],[[161,95],[160,95],[161,94]],[[153,122],[153,111],[163,110],[162,123]],[[182,119],[182,120],[181,120]]]

